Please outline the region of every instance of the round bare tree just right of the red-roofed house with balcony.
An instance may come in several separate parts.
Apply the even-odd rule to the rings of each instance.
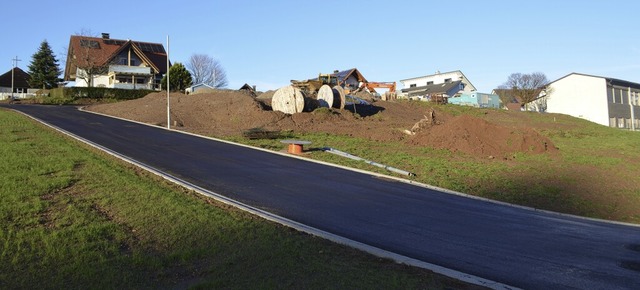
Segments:
[[[193,77],[193,84],[204,83],[214,88],[227,86],[227,74],[219,61],[206,54],[194,54],[189,58],[187,69]]]

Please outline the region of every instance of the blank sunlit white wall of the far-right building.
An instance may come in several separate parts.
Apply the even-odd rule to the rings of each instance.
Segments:
[[[601,77],[572,74],[549,85],[547,112],[609,126],[607,83]]]

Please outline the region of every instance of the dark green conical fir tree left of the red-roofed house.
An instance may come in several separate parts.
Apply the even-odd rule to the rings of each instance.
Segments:
[[[53,55],[53,51],[47,40],[42,41],[38,52],[31,57],[29,64],[29,86],[32,88],[51,89],[56,87],[60,80],[60,68],[58,60]]]

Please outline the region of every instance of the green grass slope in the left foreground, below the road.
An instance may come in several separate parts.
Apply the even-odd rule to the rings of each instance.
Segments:
[[[0,109],[0,288],[473,288],[266,222]]]

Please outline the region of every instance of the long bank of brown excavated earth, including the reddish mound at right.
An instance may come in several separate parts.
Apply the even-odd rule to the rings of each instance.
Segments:
[[[506,127],[470,115],[450,116],[417,102],[372,102],[345,110],[317,109],[284,114],[271,110],[266,92],[258,97],[220,90],[206,94],[170,95],[172,125],[209,136],[237,136],[247,130],[326,132],[375,141],[401,141],[481,157],[505,157],[516,152],[553,153],[551,140],[526,127]],[[86,107],[86,110],[166,126],[166,93]],[[354,114],[357,113],[357,114]]]

